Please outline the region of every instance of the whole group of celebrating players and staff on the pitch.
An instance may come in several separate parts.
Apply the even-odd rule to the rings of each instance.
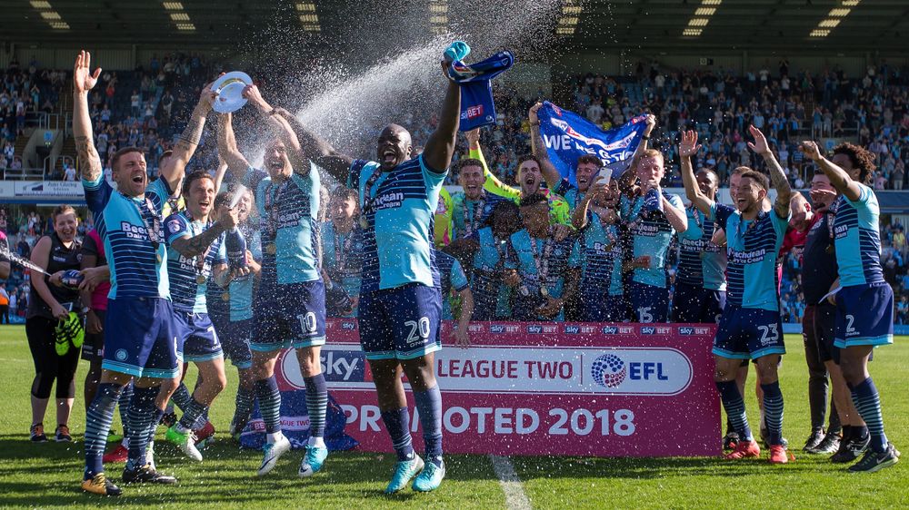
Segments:
[[[830,378],[837,417],[824,429],[824,385],[820,397],[812,395],[814,428],[805,450],[834,453],[834,462],[861,456],[853,472],[898,460],[867,372],[872,348],[893,341],[894,295],[884,281],[879,208],[868,186],[874,154],[860,146],[841,144],[827,159],[814,142],[791,139],[816,168],[809,202],[793,191],[773,142],[752,118],[742,135],[744,162],[769,178],[738,161],[728,172],[727,205],[717,202],[721,176],[695,165],[704,153],[700,130],[668,126],[678,138],[661,152],[650,145],[658,117],[647,115],[626,172],[613,179],[603,162],[585,155],[569,180],[550,160],[540,134],[542,104],[535,103],[514,124],[531,149],[516,158],[515,185],[494,174],[484,135],[472,131],[464,133],[454,163],[462,191],[449,193],[443,183],[459,145],[461,108],[460,88],[450,79],[422,151],[415,152],[404,127],[389,124],[376,141],[375,161],[339,151],[247,85],[255,129],[273,136],[262,170],[240,150],[232,115],[214,113],[207,84],[185,130],[160,154],[156,179],[146,151],[128,138],[113,153],[108,148],[112,186],[95,137],[105,122],[93,118],[90,105],[103,76],[89,54],[78,55],[73,131],[95,229],[77,239],[75,211],[54,211],[53,231],[31,250],[32,262],[49,276],[32,274],[26,322],[36,368],[32,440],[47,439],[43,420],[54,383],[55,439],[71,440],[79,348],[90,360],[86,492],[121,494],[105,475],[105,461],[125,461],[124,483],[175,482],[156,469],[151,446],[172,403],[183,414],[169,422],[165,437],[201,461],[196,441],[211,427],[208,409],[225,388],[225,358],[240,375],[230,432],[246,427],[257,403],[265,422],[257,474],[270,473],[290,449],[275,379],[278,353],[289,347],[305,380],[311,424],[299,476],[322,470],[328,397],[320,351],[329,339],[328,316],[361,319],[361,346],[398,458],[389,493],[411,480],[415,490],[431,491],[445,477],[444,407],[434,368],[441,319],[454,320],[461,348],[470,346],[472,320],[718,323],[714,379],[732,450],[725,458],[761,452],[744,412],[752,360],[761,436],[772,463],[788,462],[777,367],[786,352],[780,285],[790,251],[802,253],[796,258],[804,266],[809,368]],[[612,122],[628,117],[620,115]],[[216,124],[217,172],[187,172],[206,123]],[[518,134],[524,123],[526,135]],[[663,189],[673,161],[689,206]],[[341,185],[327,189],[327,176]],[[678,264],[670,274],[674,242]],[[192,389],[181,382],[188,362],[201,376]],[[402,373],[419,410],[422,457],[412,446]],[[123,455],[105,456],[118,405]]]

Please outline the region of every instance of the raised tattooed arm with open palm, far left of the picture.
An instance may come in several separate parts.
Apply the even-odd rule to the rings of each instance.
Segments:
[[[95,149],[92,118],[88,113],[88,91],[98,83],[101,68],[92,73],[91,64],[92,54],[83,50],[75,57],[73,67],[73,139],[79,156],[80,177],[85,181],[97,181],[104,172],[101,156]]]

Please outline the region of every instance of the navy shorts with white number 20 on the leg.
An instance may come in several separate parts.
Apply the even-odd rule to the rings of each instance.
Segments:
[[[360,296],[360,345],[366,359],[413,359],[442,348],[439,289],[410,284]]]

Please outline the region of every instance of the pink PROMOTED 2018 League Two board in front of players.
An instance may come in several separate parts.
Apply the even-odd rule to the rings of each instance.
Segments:
[[[391,451],[355,319],[330,319],[322,363],[367,451]],[[445,451],[564,456],[717,456],[714,326],[480,322],[471,347],[436,353]],[[275,370],[282,391],[302,389],[295,356]],[[409,395],[408,395],[409,397]],[[410,406],[413,409],[413,401]],[[422,443],[418,419],[415,443]],[[419,445],[416,445],[420,449]]]

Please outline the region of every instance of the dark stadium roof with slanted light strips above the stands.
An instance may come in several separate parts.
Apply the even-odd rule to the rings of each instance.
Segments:
[[[430,21],[433,5],[454,11],[462,1],[419,2],[426,31],[438,27],[439,18]],[[293,30],[332,44],[334,28],[350,23],[345,11],[356,9],[362,4],[355,0],[0,0],[0,40],[223,48],[250,33]],[[574,50],[902,52],[909,1],[562,0],[558,19],[552,30]]]

